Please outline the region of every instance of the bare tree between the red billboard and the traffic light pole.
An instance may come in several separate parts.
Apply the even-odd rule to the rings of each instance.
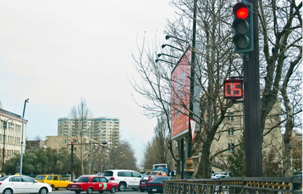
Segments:
[[[174,23],[169,23],[167,32],[179,38],[185,37],[185,40],[187,40],[186,37],[191,34],[188,26],[192,20],[189,13],[192,13],[193,2],[174,1],[172,4],[179,8],[180,19]],[[202,152],[201,163],[197,172],[198,177],[208,178],[210,176],[211,144],[225,118],[225,113],[233,104],[223,99],[223,80],[231,75],[241,75],[240,59],[232,52],[231,26],[225,22],[226,18],[231,18],[231,13],[226,12],[226,9],[231,7],[230,5],[230,1],[203,1],[198,3],[197,34],[199,45],[196,50],[196,61],[199,69],[197,75],[200,75],[200,81],[195,84],[199,85],[201,91],[199,99],[200,115],[196,115],[201,120],[201,130],[196,134],[193,147],[193,154],[197,154],[198,151]],[[179,44],[183,48],[187,47],[186,43],[181,44],[178,40],[172,40],[172,43]],[[173,51],[169,52],[173,53]],[[143,87],[136,84],[135,81],[133,85],[138,93],[151,100],[150,105],[142,107],[149,111],[149,114],[154,113],[153,116],[165,114],[170,128],[170,106],[172,103],[170,101],[172,85],[170,72],[172,66],[165,63],[156,64],[154,62],[156,54],[145,53],[143,48],[140,49],[139,53],[138,59],[134,57],[137,72],[150,87]],[[147,56],[146,61],[144,61],[144,55]],[[188,110],[188,107],[184,106],[186,102],[182,101],[182,96],[177,98],[180,100],[180,107]],[[171,153],[173,153],[172,149]]]

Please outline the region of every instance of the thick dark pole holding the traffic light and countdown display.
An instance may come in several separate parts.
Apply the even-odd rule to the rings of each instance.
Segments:
[[[249,0],[253,10],[258,10],[258,1]],[[246,175],[262,176],[262,131],[260,110],[260,73],[259,73],[259,32],[258,11],[253,14],[254,51],[243,57],[244,83],[244,121],[245,121],[245,154]]]

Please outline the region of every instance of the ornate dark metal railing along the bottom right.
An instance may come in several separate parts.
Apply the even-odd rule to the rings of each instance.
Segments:
[[[221,179],[165,180],[164,194],[302,193],[302,178],[233,177]]]

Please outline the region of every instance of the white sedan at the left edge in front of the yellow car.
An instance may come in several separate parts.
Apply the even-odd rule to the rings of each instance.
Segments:
[[[25,175],[10,175],[0,178],[0,193],[40,193],[52,192],[49,184],[38,182],[37,180]]]

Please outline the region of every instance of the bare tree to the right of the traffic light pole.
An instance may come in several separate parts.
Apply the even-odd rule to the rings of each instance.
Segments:
[[[290,98],[298,92],[301,81],[299,66],[302,62],[302,18],[300,9],[302,2],[291,1],[259,1],[260,32],[263,39],[261,48],[261,73],[264,75],[264,88],[261,100],[261,127],[279,98],[279,91],[285,109],[285,176],[292,175],[291,133],[294,126],[294,110],[301,105],[301,98]],[[296,90],[292,90],[294,87]],[[296,103],[292,103],[296,102]]]

